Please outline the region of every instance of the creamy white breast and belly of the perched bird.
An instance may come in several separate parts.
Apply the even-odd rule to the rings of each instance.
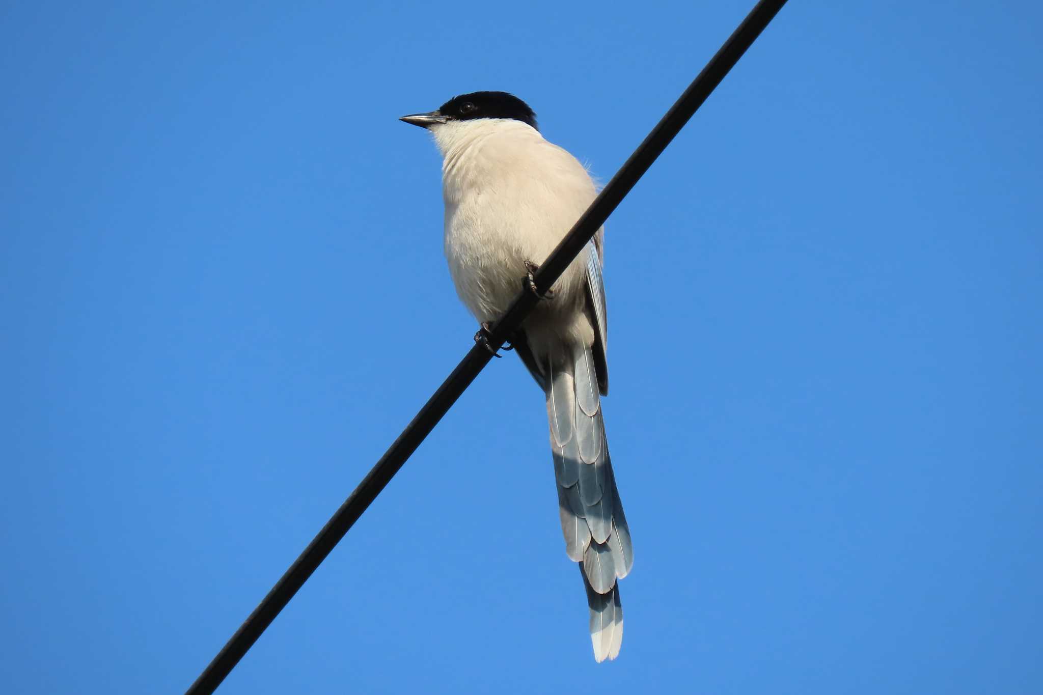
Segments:
[[[510,120],[432,128],[444,158],[445,257],[457,294],[479,321],[517,296],[525,262],[541,264],[593,200],[583,166],[534,128]],[[582,301],[585,252],[555,284],[565,311]]]

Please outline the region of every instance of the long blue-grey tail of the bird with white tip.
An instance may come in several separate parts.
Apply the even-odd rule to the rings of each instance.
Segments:
[[[630,572],[634,551],[608,456],[593,353],[578,345],[550,367],[547,414],[561,530],[565,551],[580,564],[590,606],[593,657],[601,663],[615,659],[623,643],[616,579]]]

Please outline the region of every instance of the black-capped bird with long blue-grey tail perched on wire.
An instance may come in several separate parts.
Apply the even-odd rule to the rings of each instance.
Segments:
[[[399,120],[426,128],[442,155],[444,251],[463,304],[482,325],[506,314],[597,196],[586,168],[548,142],[536,114],[507,92],[472,92]],[[608,394],[601,228],[545,292],[510,344],[543,390],[565,552],[579,564],[595,661],[623,642],[618,580],[633,565],[601,396]]]

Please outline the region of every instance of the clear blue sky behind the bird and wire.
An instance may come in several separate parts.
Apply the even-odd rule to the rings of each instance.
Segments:
[[[397,117],[607,180],[751,6],[4,3],[0,690],[183,691],[470,347]],[[221,692],[1041,692],[1041,35],[795,0],[609,220],[616,662],[509,354]]]

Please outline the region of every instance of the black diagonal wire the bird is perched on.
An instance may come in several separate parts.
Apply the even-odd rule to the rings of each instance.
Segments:
[[[674,136],[693,114],[696,113],[711,92],[721,83],[725,75],[743,56],[746,49],[760,35],[760,32],[785,4],[785,0],[761,0],[750,10],[738,28],[728,38],[717,54],[706,64],[681,98],[671,106],[645,142],[638,146],[623,168],[612,177],[608,185],[590,204],[583,217],[573,226],[568,234],[548,256],[536,273],[537,289],[542,293],[564,272],[568,264],[586,246],[595,232],[605,223],[616,205],[630,192],[637,180],[648,171],[652,163],[662,153]],[[532,311],[538,299],[532,292],[523,292],[493,326],[488,338],[489,347],[500,349],[522,325],[522,321]],[[340,505],[322,530],[308,544],[300,556],[272,587],[268,595],[253,610],[246,621],[236,630],[214,661],[187,691],[190,695],[213,693],[225,676],[235,668],[239,660],[253,646],[261,634],[286,607],[297,590],[304,586],[312,572],[325,560],[348,529],[358,521],[362,513],[384,490],[388,481],[403,467],[453,403],[470,386],[479,372],[489,363],[492,353],[484,346],[476,344],[457,365],[453,373],[442,382],[434,395],[423,404],[412,422],[403,430],[398,439],[366,474],[359,487]]]

